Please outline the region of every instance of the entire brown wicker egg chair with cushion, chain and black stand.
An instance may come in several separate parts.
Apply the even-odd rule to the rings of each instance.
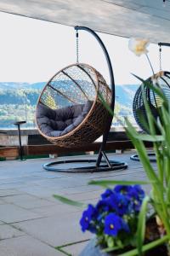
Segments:
[[[103,101],[112,112],[115,106],[115,82],[110,56],[105,45],[92,29],[86,26],[75,26],[75,29],[90,32],[99,42],[108,64],[111,89],[94,67],[79,63],[77,32],[77,64],[60,70],[43,88],[37,102],[37,128],[49,142],[64,148],[82,147],[93,143],[101,135],[103,141],[97,160],[61,160],[47,163],[43,168],[54,172],[104,172],[126,169],[127,163],[109,160],[105,154],[105,144],[113,116],[105,108]],[[102,160],[102,157],[105,160]],[[82,162],[85,166],[74,166],[75,163],[82,164]],[[95,164],[89,166],[89,163]],[[69,164],[69,168],[59,168],[63,164]]]

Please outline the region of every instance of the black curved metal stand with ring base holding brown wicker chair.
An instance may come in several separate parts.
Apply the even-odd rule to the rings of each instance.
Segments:
[[[78,31],[79,30],[84,30],[87,32],[90,32],[94,38],[97,39],[99,45],[104,51],[105,54],[105,59],[107,61],[109,73],[110,73],[110,84],[111,84],[111,110],[112,113],[114,112],[115,108],[115,81],[114,81],[114,75],[113,75],[113,69],[111,65],[111,59],[110,56],[107,52],[107,49],[105,48],[105,44],[103,44],[102,40],[99,38],[99,36],[90,28],[86,26],[75,26],[75,30],[77,31],[77,38],[78,38]],[[77,58],[78,59],[78,58]],[[109,131],[111,129],[111,122],[112,122],[113,116],[111,115],[110,118],[107,120],[107,125],[105,128],[105,131],[103,133],[103,141],[101,143],[101,146],[99,148],[99,154],[97,157],[97,160],[64,160],[64,161],[55,161],[55,162],[50,162],[45,165],[43,165],[43,168],[48,171],[53,171],[53,172],[108,172],[108,171],[116,171],[116,170],[123,170],[127,168],[127,163],[126,162],[120,162],[120,161],[114,161],[114,160],[109,160],[107,155],[105,154],[105,144],[108,139]],[[102,160],[102,157],[104,160]],[[75,165],[77,163],[94,163],[93,166],[80,166],[76,167]],[[64,168],[64,164],[69,164],[69,167]],[[73,167],[71,168],[71,164]],[[62,167],[59,169],[59,165]],[[55,167],[57,166],[57,168]]]

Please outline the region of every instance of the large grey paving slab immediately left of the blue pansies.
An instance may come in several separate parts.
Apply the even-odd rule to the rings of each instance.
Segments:
[[[26,234],[56,247],[90,238],[90,233],[82,233],[79,226],[81,212],[63,212],[58,216],[39,218],[14,224]]]

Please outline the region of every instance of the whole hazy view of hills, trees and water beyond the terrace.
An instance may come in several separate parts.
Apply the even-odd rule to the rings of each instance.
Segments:
[[[70,82],[71,83],[71,82]],[[26,126],[32,127],[35,123],[35,108],[38,96],[46,83],[13,83],[0,82],[0,127],[14,127],[16,120],[26,120]],[[87,82],[82,82],[82,88],[88,91]],[[63,90],[69,86],[69,82],[61,80],[57,84]],[[124,120],[124,116],[132,117],[133,120],[133,96],[138,89],[137,84],[119,84],[116,85],[116,113],[119,119]],[[70,88],[71,90],[71,88]],[[75,96],[74,94],[72,96]],[[77,96],[76,96],[77,97]],[[58,102],[64,100],[58,95]],[[65,106],[65,101],[62,106]],[[120,125],[120,122],[114,120],[114,125]],[[121,123],[122,125],[122,123]]]

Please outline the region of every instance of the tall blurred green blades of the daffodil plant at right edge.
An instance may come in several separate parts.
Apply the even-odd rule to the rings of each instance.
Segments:
[[[143,82],[144,86],[148,86],[150,90],[153,90],[155,94],[161,98],[162,105],[159,109],[159,119],[155,120],[153,118],[143,90],[144,107],[147,114],[145,125],[148,125],[149,135],[138,135],[138,133],[133,128],[133,125],[131,125],[128,120],[126,130],[128,137],[131,138],[133,145],[138,151],[139,158],[144,166],[144,170],[149,180],[152,181],[152,190],[150,193],[151,204],[152,207],[154,207],[156,214],[162,221],[162,224],[167,233],[167,240],[170,241],[170,102],[167,100],[159,84],[153,85],[149,82],[144,82],[143,79],[140,80]],[[144,146],[144,140],[153,142],[153,148],[156,153],[157,172],[155,168],[150,165],[147,150]],[[144,208],[145,207],[146,202]],[[146,214],[145,209],[143,209],[143,211],[140,213],[139,221],[142,223],[144,222],[144,216]],[[142,225],[141,223],[139,223],[139,226]],[[142,227],[140,228],[140,232],[144,232],[144,230],[142,231]],[[144,238],[142,236],[138,236],[138,239],[139,255],[141,255],[141,252],[144,252],[144,247],[142,248]],[[154,246],[155,244],[153,243],[153,247]]]

